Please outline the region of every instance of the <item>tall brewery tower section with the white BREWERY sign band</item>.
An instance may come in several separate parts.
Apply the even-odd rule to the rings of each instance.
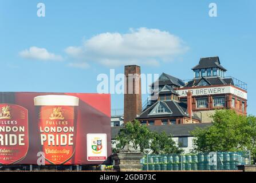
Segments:
[[[233,77],[226,77],[226,69],[219,57],[201,58],[192,68],[194,79],[177,88],[181,102],[187,102],[187,92],[192,92],[192,111],[202,122],[211,122],[216,109],[233,109],[247,114],[247,85]]]

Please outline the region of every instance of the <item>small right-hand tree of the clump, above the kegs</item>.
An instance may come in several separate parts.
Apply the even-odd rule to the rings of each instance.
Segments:
[[[172,154],[183,152],[183,150],[178,148],[174,140],[172,140],[172,135],[170,134],[170,136],[168,136],[166,132],[152,133],[150,149],[153,154]]]

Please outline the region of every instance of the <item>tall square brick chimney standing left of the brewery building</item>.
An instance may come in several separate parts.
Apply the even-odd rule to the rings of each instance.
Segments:
[[[124,123],[127,123],[142,111],[140,66],[125,66],[124,74]]]

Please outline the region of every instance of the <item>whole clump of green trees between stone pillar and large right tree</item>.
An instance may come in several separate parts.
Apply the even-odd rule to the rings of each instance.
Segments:
[[[156,154],[180,152],[170,137],[166,133],[151,132],[146,125],[141,125],[139,121],[135,120],[128,122],[120,130],[116,137],[116,148],[113,148],[113,152],[117,152],[127,145],[144,154],[149,152]]]

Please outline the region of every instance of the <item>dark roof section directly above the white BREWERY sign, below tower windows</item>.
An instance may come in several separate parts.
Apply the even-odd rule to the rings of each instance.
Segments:
[[[233,79],[231,78],[220,78],[220,77],[212,77],[212,78],[198,78],[198,79],[193,79],[189,81],[185,87],[192,87],[192,86],[197,86],[198,83],[204,79],[209,85],[234,85]]]

